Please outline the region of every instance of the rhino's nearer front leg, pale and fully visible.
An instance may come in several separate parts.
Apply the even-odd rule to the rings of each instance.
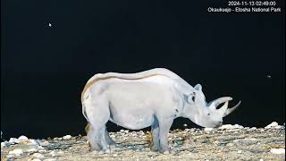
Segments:
[[[160,152],[164,154],[170,153],[170,148],[168,146],[168,134],[172,126],[172,118],[162,118],[159,121],[159,140],[160,140]]]

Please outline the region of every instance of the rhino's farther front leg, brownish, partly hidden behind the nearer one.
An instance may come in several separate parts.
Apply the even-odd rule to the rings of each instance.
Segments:
[[[158,120],[154,119],[154,123],[151,125],[151,133],[152,133],[152,142],[151,142],[151,150],[158,151],[160,150],[160,140],[159,140],[159,123]]]

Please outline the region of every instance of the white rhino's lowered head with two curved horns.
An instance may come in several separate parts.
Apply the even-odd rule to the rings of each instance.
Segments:
[[[189,118],[192,122],[203,127],[217,127],[223,124],[223,117],[231,114],[240,102],[231,108],[228,108],[228,103],[231,97],[219,97],[210,103],[206,103],[206,97],[202,91],[200,84],[194,87],[194,91],[186,96],[186,106],[184,110],[184,117]],[[220,104],[224,105],[220,108]]]

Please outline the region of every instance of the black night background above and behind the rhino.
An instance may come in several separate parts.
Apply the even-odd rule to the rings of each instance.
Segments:
[[[224,123],[285,122],[283,0],[282,13],[207,13],[227,1],[1,3],[4,137],[84,134],[80,92],[92,75],[155,67],[201,83],[207,101],[241,100]],[[183,123],[195,126],[177,119],[173,128]]]

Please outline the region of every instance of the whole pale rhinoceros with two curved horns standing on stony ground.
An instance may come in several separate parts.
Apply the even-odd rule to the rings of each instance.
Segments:
[[[240,106],[239,102],[228,108],[231,100],[219,97],[207,103],[200,84],[192,87],[164,68],[97,73],[81,93],[82,114],[88,121],[87,138],[91,149],[101,153],[109,153],[114,146],[105,127],[108,121],[130,130],[151,126],[151,150],[169,153],[167,137],[175,118],[189,118],[202,127],[217,127],[222,125],[224,116]]]

